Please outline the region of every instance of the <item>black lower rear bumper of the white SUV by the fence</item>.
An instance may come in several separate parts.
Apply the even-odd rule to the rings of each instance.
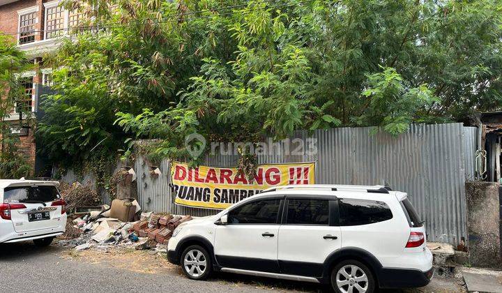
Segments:
[[[427,271],[416,269],[382,268],[378,281],[381,288],[418,288],[430,283],[434,268]]]

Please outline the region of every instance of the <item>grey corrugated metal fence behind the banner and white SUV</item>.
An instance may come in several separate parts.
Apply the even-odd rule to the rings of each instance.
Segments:
[[[315,161],[316,183],[388,184],[409,194],[418,213],[426,220],[429,241],[456,244],[466,237],[464,182],[474,173],[476,128],[462,123],[414,125],[408,133],[393,137],[372,133],[372,128],[334,128],[306,131],[291,137],[289,147],[313,139],[317,153],[303,156],[258,156],[258,163]],[[282,146],[284,147],[284,145]],[[238,156],[207,156],[205,165],[234,167]],[[217,213],[174,204],[169,190],[169,161],[158,166],[162,174],[151,176],[151,165],[137,158],[135,172],[139,204],[151,211],[166,211],[192,216]]]

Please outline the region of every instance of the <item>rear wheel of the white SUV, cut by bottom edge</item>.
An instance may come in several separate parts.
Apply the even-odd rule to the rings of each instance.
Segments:
[[[331,271],[331,288],[338,293],[372,293],[375,280],[367,265],[357,260],[344,260]]]

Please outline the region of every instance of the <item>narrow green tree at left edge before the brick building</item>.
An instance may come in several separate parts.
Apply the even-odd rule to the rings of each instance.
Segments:
[[[19,78],[19,74],[28,69],[29,62],[24,53],[17,48],[14,40],[0,34],[0,178],[2,179],[28,176],[32,171],[19,151],[19,136],[12,132],[12,128],[16,127],[13,125],[15,122],[6,121],[15,110],[24,114],[25,121],[30,121],[30,111],[22,107],[26,93]]]

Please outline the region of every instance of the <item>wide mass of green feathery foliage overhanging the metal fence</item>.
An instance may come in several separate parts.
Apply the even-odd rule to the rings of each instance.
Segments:
[[[496,0],[84,3],[100,27],[53,58],[59,94],[38,131],[54,159],[128,149],[126,137],[179,158],[194,132],[234,142],[338,126],[398,135],[502,105]]]

